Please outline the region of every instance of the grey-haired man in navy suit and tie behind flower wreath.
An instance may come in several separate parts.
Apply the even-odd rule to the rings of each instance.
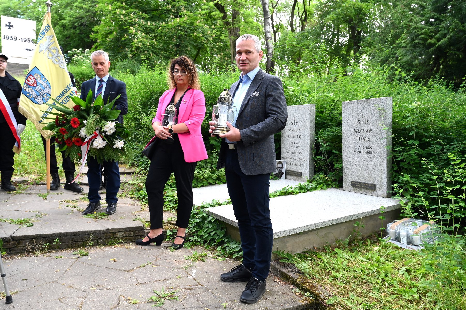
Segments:
[[[121,94],[113,108],[121,111],[116,121],[123,124],[123,115],[128,113],[126,84],[110,76],[110,61],[107,53],[104,51],[95,51],[90,55],[90,58],[92,69],[96,72],[96,77],[82,83],[80,98],[86,100],[88,93],[92,92],[94,99],[102,95],[103,102],[108,103]],[[102,180],[101,164],[90,156],[87,158],[87,164],[89,168],[89,205],[82,212],[83,215],[94,213],[94,211],[101,207],[99,195],[100,181]],[[105,197],[107,209],[105,213],[110,215],[117,212],[117,193],[120,189],[120,169],[118,168],[118,162],[104,161],[103,167],[107,173],[107,194]]]

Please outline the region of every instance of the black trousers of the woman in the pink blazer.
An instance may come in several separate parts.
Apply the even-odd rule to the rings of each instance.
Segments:
[[[192,180],[197,162],[185,162],[185,154],[178,138],[175,143],[167,144],[156,141],[156,149],[152,155],[151,165],[145,182],[151,229],[162,228],[164,210],[164,187],[173,172],[178,192],[178,208],[176,225],[187,228],[192,209]]]

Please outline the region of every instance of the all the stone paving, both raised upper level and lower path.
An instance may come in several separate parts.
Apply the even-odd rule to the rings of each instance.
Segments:
[[[7,283],[15,293],[12,304],[6,305],[5,299],[0,299],[0,309],[154,309],[151,306],[157,303],[148,300],[158,296],[154,290],[177,291],[172,296],[178,300],[163,298],[159,302],[163,303],[160,309],[165,310],[314,309],[295,294],[289,283],[272,274],[267,278],[267,292],[258,303],[241,303],[239,297],[246,283],[223,283],[219,279],[220,273],[239,262],[230,258],[218,260],[210,253],[203,257],[205,262],[186,259],[194,251],[208,253],[203,248],[171,251],[167,248],[171,243],[141,247],[133,242],[84,248],[76,236],[88,238],[88,243],[96,240],[96,245],[109,240],[134,240],[136,235],[128,230],[131,227],[138,227],[144,235],[143,224],[133,219],[149,219],[149,211],[130,198],[119,198],[116,214],[101,220],[84,218],[81,211],[88,203],[88,187],[83,187],[83,195],[61,187],[45,196],[45,185],[29,186],[16,194],[0,191],[0,219],[34,219],[31,227],[0,222],[4,247],[8,242],[17,246],[27,240],[35,242],[28,243],[27,254],[10,253],[3,257]],[[105,202],[104,192],[101,202]],[[89,232],[95,234],[94,239],[89,238]],[[109,234],[120,237],[110,238]],[[54,244],[56,238],[59,243]],[[89,254],[73,254],[78,251]]]

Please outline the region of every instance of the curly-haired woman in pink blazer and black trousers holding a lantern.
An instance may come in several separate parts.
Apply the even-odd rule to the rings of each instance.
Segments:
[[[144,239],[136,240],[136,243],[148,245],[155,242],[160,245],[164,240],[164,187],[173,172],[178,192],[178,231],[172,247],[181,249],[191,216],[194,169],[198,161],[207,158],[201,135],[201,123],[206,116],[206,99],[199,90],[196,66],[188,57],[180,56],[170,61],[168,78],[170,89],[160,97],[157,113],[152,120],[156,136],[154,143],[157,144],[145,182],[151,231]],[[174,125],[169,125],[164,114],[174,110],[173,107],[176,108],[176,119]]]

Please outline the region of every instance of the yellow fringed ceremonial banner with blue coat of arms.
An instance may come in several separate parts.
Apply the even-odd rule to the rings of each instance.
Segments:
[[[29,72],[24,81],[19,111],[29,121],[32,121],[37,130],[47,138],[53,133],[49,130],[42,130],[42,127],[47,122],[53,121],[46,117],[55,117],[55,115],[49,115],[54,108],[44,103],[55,104],[50,100],[52,97],[67,107],[73,108],[74,103],[70,97],[75,95],[60,45],[55,37],[50,18],[48,14],[45,14],[41,31],[37,36],[37,45],[29,65]]]

